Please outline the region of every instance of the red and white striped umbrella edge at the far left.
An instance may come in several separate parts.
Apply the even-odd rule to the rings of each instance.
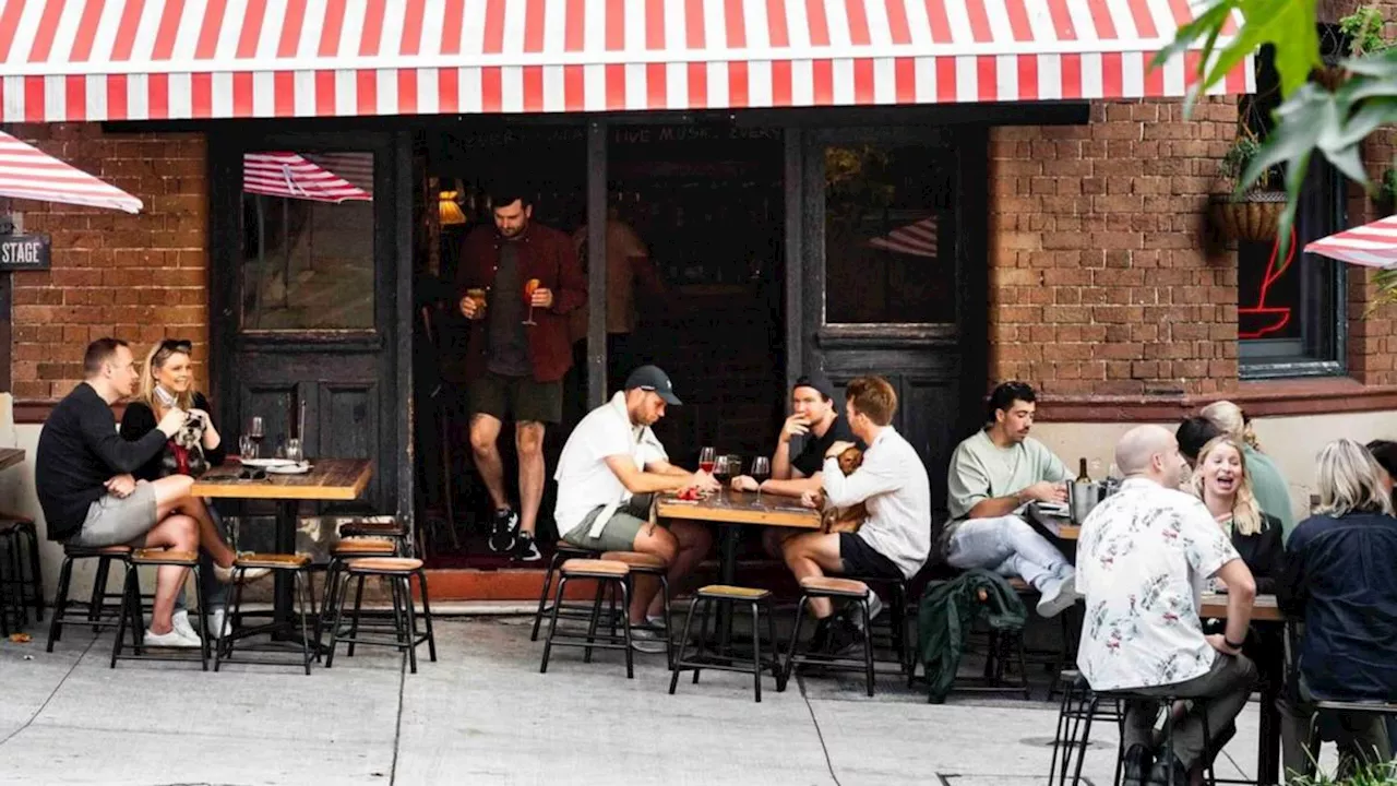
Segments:
[[[140,213],[141,200],[0,131],[0,196]]]

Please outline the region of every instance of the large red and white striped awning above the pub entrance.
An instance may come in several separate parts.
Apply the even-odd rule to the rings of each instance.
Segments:
[[[1208,1],[0,0],[0,122],[1180,97]]]

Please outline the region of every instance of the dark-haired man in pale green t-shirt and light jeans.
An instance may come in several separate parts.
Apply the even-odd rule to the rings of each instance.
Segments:
[[[937,550],[951,568],[1021,576],[1039,593],[1038,614],[1055,617],[1077,601],[1071,562],[1018,510],[1067,499],[1067,466],[1028,436],[1037,394],[1004,382],[989,394],[989,425],[956,448],[946,473],[950,520]]]

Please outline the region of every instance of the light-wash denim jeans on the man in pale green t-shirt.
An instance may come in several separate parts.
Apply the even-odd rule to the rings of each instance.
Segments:
[[[985,568],[1000,576],[1020,576],[1034,586],[1056,578],[1071,564],[1048,538],[1018,516],[965,519],[951,530],[946,564],[951,568]]]

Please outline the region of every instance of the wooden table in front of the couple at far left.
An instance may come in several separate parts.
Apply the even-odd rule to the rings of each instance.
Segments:
[[[239,464],[215,467],[194,481],[194,496],[217,499],[272,499],[277,502],[277,551],[296,552],[296,505],[300,502],[348,502],[358,499],[373,477],[367,459],[312,459],[310,471],[300,476],[268,474],[265,480],[239,480]],[[292,582],[277,571],[274,608],[277,621],[292,618]]]

